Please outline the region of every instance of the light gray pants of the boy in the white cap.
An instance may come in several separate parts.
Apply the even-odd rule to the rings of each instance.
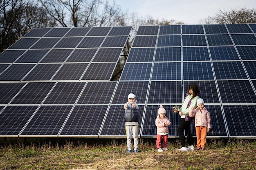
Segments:
[[[139,125],[126,125],[125,130],[126,130],[126,135],[127,135],[127,148],[128,148],[128,150],[132,150],[132,136],[133,136],[134,150],[137,150],[138,149]]]

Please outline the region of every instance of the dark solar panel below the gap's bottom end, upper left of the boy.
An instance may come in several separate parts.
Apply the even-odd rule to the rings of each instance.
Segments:
[[[109,104],[117,82],[88,82],[78,104]]]

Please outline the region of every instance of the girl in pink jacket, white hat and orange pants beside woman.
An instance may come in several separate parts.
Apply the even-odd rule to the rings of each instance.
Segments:
[[[199,98],[196,100],[198,107],[195,108],[192,106],[189,110],[189,116],[195,116],[195,131],[196,131],[196,150],[204,150],[206,144],[207,132],[211,128],[211,118],[207,109],[204,107],[204,100]]]

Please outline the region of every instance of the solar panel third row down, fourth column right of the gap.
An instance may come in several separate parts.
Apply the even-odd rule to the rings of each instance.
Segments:
[[[234,46],[210,46],[212,60],[239,60]]]

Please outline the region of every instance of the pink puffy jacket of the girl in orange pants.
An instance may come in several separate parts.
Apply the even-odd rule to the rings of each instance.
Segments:
[[[195,116],[195,127],[204,126],[207,128],[211,128],[210,114],[205,107],[203,108],[202,112],[200,111],[199,108],[195,108],[195,110],[190,109],[189,116]]]

